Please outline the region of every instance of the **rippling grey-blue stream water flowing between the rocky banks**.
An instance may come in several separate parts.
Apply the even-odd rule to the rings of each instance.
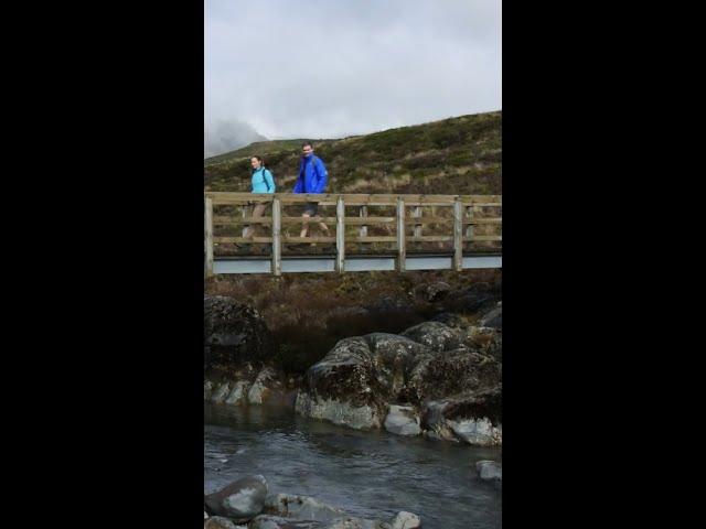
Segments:
[[[359,432],[285,407],[223,404],[205,404],[204,444],[206,493],[261,474],[270,493],[313,496],[362,518],[407,510],[425,529],[502,526],[502,492],[474,471],[477,461],[501,462],[499,449]]]

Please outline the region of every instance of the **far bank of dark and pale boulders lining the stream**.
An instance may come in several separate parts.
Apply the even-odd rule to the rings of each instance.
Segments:
[[[425,292],[450,295],[439,284]],[[502,304],[488,292],[456,293],[479,309],[472,317],[445,312],[399,334],[340,339],[303,376],[276,365],[274,339],[257,311],[231,298],[206,296],[204,400],[280,402],[301,415],[359,430],[501,445]]]

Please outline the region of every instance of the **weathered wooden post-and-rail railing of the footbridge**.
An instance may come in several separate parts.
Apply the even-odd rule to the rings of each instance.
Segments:
[[[335,270],[343,272],[346,244],[351,242],[393,244],[397,269],[404,271],[408,245],[450,244],[453,268],[461,270],[464,245],[490,242],[495,246],[502,241],[502,195],[206,192],[204,201],[207,274],[213,273],[214,247],[217,245],[271,245],[271,272],[279,276],[282,247],[291,244],[335,244]],[[334,235],[302,238],[289,234],[288,227],[302,226],[300,209],[307,203],[321,206],[319,216],[309,219],[310,230],[323,223],[335,226],[334,230],[330,230]],[[271,204],[267,208],[271,214],[253,217],[256,204]],[[334,215],[321,213],[327,207],[330,210],[332,206],[335,206]],[[285,214],[285,208],[289,209],[289,215]],[[296,216],[291,214],[292,208],[298,209]],[[352,209],[352,215],[346,216],[346,209],[350,213]],[[257,225],[269,227],[269,236],[243,236],[248,226]],[[243,226],[239,236],[234,226]]]

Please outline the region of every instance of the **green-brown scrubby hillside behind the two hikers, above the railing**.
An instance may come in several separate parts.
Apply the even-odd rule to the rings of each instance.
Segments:
[[[502,193],[502,111],[339,140],[313,140],[331,193]],[[275,140],[204,160],[206,191],[250,190],[252,155],[271,169],[280,191],[297,177],[303,140]]]

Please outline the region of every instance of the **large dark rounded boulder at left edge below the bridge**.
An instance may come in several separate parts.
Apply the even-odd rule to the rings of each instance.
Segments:
[[[204,370],[271,359],[274,341],[257,311],[225,296],[204,296]]]

